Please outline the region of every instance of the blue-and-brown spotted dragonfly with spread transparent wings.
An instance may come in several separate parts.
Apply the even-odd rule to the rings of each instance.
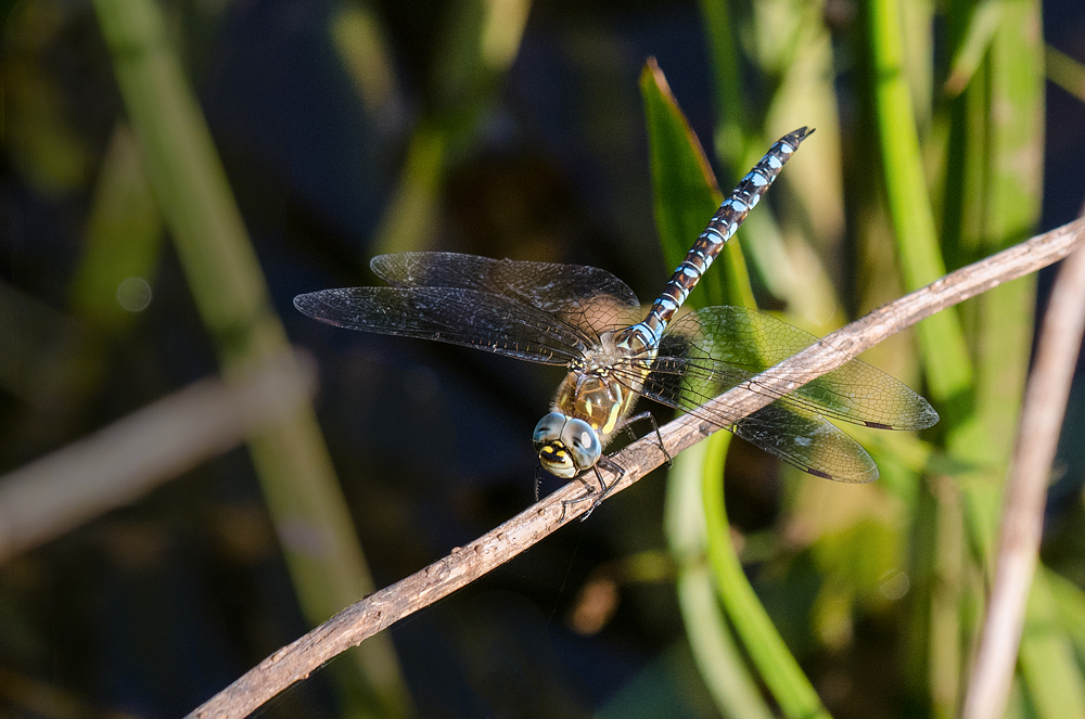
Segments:
[[[647,313],[633,290],[599,268],[446,252],[376,256],[370,267],[390,286],[321,290],[298,295],[294,305],[340,328],[565,367],[567,374],[533,440],[539,464],[558,477],[595,471],[599,489],[589,488],[596,498],[591,509],[617,484],[614,479],[608,485],[599,466],[614,470],[618,479],[624,474],[603,450],[616,433],[649,415],[631,415],[638,397],[729,429],[809,474],[871,482],[878,478],[873,460],[830,420],[921,429],[939,420],[923,397],[889,374],[846,358],[814,380],[796,370],[787,386],[797,388],[777,391],[761,410],[736,419],[726,406],[706,403],[740,385],[770,391],[750,381],[821,341],[745,307],[706,307],[677,316],[810,132],[800,128],[769,149],[713,215]],[[536,476],[536,492],[537,487]]]

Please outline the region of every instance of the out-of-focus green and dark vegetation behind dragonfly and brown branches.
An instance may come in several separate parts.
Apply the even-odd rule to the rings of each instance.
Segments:
[[[0,714],[178,716],[531,502],[553,373],[317,325],[295,294],[443,248],[597,265],[649,299],[718,203],[713,177],[729,191],[807,125],[690,300],[824,334],[1076,215],[1078,5],[3,3],[0,472],[206,375],[241,380],[288,337],[321,391],[246,428],[247,449],[193,454],[43,545],[0,544]],[[943,418],[848,427],[878,483],[716,437],[264,711],[956,715],[1043,286],[864,357]],[[1085,715],[1072,402],[1013,717]],[[2,483],[0,542],[5,516],[72,499],[4,504]]]

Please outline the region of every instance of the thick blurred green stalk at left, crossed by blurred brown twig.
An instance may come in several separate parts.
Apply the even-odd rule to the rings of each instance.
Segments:
[[[289,350],[195,98],[153,0],[95,0],[151,187],[225,374]],[[311,407],[252,437],[250,453],[298,601],[316,625],[373,585]],[[352,653],[340,677],[359,716],[400,717],[408,697],[391,641]],[[365,689],[358,689],[365,686]]]

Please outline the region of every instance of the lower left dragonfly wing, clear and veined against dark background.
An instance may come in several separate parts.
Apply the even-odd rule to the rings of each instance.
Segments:
[[[346,287],[294,298],[309,317],[350,330],[436,339],[544,364],[584,350],[575,330],[503,295],[458,287]]]

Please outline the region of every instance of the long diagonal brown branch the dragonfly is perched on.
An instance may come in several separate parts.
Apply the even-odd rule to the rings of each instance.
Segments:
[[[769,391],[754,393],[743,385],[713,402],[735,408],[733,420],[739,420],[771,402],[774,394],[794,389],[788,383],[800,368],[804,376],[814,380],[846,361],[846,357],[840,357],[840,351],[854,357],[946,307],[1062,259],[1077,248],[1083,239],[1085,220],[1077,220],[961,268],[876,309],[757,375],[757,385]],[[676,454],[718,428],[686,414],[664,426],[661,433],[667,452]],[[662,464],[664,457],[656,438],[650,435],[626,447],[614,455],[614,460],[625,468],[613,490],[621,491]],[[610,474],[608,479],[614,480],[614,475]],[[195,709],[189,719],[247,716],[285,688],[308,677],[324,662],[474,581],[579,516],[588,510],[589,502],[565,503],[583,493],[580,483],[571,482],[467,547],[456,548],[424,569],[352,604],[264,659]]]

